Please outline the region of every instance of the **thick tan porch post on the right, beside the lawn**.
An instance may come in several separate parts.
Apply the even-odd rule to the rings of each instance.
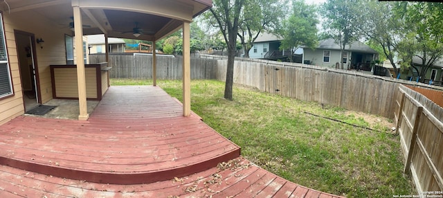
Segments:
[[[191,114],[190,23],[183,22],[183,116]]]

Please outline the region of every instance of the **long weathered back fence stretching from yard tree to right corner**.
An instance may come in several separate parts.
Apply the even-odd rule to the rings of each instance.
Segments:
[[[226,60],[216,76],[226,79]],[[392,118],[397,82],[352,71],[289,63],[235,62],[234,82],[300,100],[316,101]]]

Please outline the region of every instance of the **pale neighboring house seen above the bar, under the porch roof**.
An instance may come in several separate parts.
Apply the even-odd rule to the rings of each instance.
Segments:
[[[88,35],[89,54],[106,53],[105,35]],[[125,41],[119,38],[108,38],[109,53],[124,53]]]

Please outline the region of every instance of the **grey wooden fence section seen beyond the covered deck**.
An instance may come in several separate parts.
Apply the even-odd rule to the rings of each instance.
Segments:
[[[89,55],[89,62],[106,62],[105,55]],[[191,58],[192,79],[215,79],[217,60]],[[108,65],[112,67],[110,78],[152,79],[152,55],[110,54]],[[181,80],[183,58],[157,55],[157,78],[161,80]]]

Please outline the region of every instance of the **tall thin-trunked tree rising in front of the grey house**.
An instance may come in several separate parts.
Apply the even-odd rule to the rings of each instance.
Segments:
[[[341,59],[345,46],[358,40],[361,36],[361,12],[359,0],[327,0],[321,6],[321,13],[326,21],[323,23],[325,30],[332,35],[336,43],[341,46]],[[343,69],[343,61],[341,69]]]

